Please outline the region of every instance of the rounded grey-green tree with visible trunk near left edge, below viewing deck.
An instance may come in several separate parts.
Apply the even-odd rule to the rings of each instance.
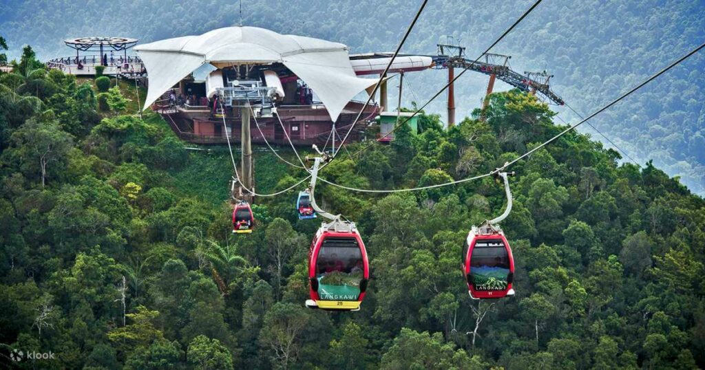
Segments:
[[[71,135],[63,132],[56,122],[39,122],[35,119],[27,121],[16,130],[11,140],[23,161],[23,168],[28,172],[39,171],[42,187],[47,183],[49,164],[65,161],[73,143]]]

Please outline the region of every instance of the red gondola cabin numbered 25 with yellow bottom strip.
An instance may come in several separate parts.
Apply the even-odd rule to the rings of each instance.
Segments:
[[[336,230],[336,224],[348,228]],[[309,250],[307,307],[357,311],[368,281],[367,251],[355,224],[333,221],[319,228]]]

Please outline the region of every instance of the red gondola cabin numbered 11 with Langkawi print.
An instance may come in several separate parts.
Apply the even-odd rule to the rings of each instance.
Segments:
[[[470,297],[502,298],[514,295],[514,259],[502,230],[470,230],[463,248],[463,271]]]

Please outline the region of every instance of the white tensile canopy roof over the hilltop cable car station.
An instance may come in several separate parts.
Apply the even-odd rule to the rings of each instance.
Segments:
[[[259,27],[225,27],[200,36],[164,39],[135,47],[149,73],[144,109],[204,63],[283,63],[311,87],[333,121],[350,99],[376,80],[358,78],[348,47],[312,37],[280,35]]]

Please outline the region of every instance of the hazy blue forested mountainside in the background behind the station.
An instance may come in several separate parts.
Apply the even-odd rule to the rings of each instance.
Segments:
[[[243,24],[343,42],[355,53],[391,51],[419,3],[245,0]],[[455,35],[467,56],[475,58],[532,3],[433,2],[403,51],[435,54],[441,35]],[[19,57],[23,44],[31,44],[47,60],[71,54],[62,43],[68,37],[128,36],[151,42],[236,25],[239,13],[238,1],[6,0],[0,6],[0,34],[9,41],[11,58]],[[491,52],[513,56],[510,66],[520,73],[548,70],[555,75],[553,90],[585,116],[701,44],[703,18],[702,1],[544,1]],[[705,56],[696,55],[593,122],[639,164],[653,159],[699,195],[705,195],[703,70]],[[445,78],[442,70],[408,74],[405,105],[429,99]],[[463,75],[457,87],[459,119],[479,106],[486,84],[484,75]],[[508,90],[508,85],[500,82],[496,89]],[[443,104],[441,97],[427,110],[442,113],[444,121]],[[567,107],[554,109],[560,119],[577,122]],[[611,147],[592,128],[581,130]]]

